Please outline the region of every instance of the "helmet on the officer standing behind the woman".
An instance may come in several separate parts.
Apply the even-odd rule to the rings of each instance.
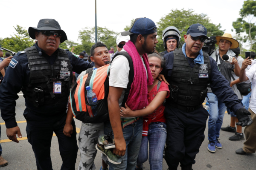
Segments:
[[[163,40],[163,46],[164,46],[165,49],[167,49],[167,46],[166,46],[166,41],[167,40],[166,39],[168,37],[177,38],[177,47],[178,47],[179,42],[180,42],[180,31],[175,26],[169,26],[169,27],[167,27],[163,30],[162,40]]]

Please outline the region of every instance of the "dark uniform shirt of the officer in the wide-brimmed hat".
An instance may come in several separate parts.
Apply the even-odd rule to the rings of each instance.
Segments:
[[[55,51],[52,56],[48,56],[47,54],[42,51],[37,43],[35,45],[38,52],[41,51],[42,55],[45,57],[47,62],[52,65],[55,62],[56,54],[58,52]],[[70,51],[66,51],[70,63],[72,65],[72,71],[76,73],[81,73],[82,71],[86,70],[87,68],[91,68],[94,65],[84,61],[83,59],[75,56]],[[40,53],[39,53],[40,54]],[[19,98],[17,93],[20,92],[22,85],[26,85],[29,83],[29,65],[26,53],[18,52],[17,55],[13,57],[15,60],[15,65],[9,66],[6,71],[6,76],[3,79],[3,82],[0,86],[0,108],[3,120],[6,122],[6,128],[16,127],[16,119],[15,119],[15,106],[16,100]],[[12,60],[13,60],[12,59]],[[13,62],[12,62],[13,63]],[[72,75],[71,75],[72,76]],[[68,100],[68,98],[67,98]],[[32,111],[39,113],[39,114],[55,114],[60,111],[60,108],[65,108],[67,106],[67,101],[64,101],[55,106],[39,106],[36,108],[33,103],[29,102],[25,99],[26,107],[31,109]]]

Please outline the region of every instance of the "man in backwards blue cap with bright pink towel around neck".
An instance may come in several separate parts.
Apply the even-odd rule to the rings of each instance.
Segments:
[[[137,18],[130,30],[121,35],[129,35],[131,39],[111,62],[108,94],[110,121],[105,122],[104,127],[105,135],[112,135],[115,139],[113,153],[123,159],[120,164],[110,162],[110,170],[134,170],[140,151],[143,119],[138,115],[121,117],[120,108],[128,106],[134,111],[148,106],[147,85],[152,84],[153,78],[147,53],[153,53],[158,43],[157,27],[148,18]],[[98,150],[102,149],[101,145],[96,146]]]

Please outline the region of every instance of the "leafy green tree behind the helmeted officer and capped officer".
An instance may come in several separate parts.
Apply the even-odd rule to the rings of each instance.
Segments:
[[[215,25],[213,23],[210,23],[209,17],[207,17],[207,14],[196,14],[195,11],[192,9],[185,10],[185,9],[172,9],[169,14],[167,14],[165,17],[162,17],[160,21],[157,23],[157,34],[159,41],[157,44],[157,51],[165,51],[165,48],[163,47],[163,40],[162,40],[162,34],[163,30],[168,26],[175,26],[178,28],[181,34],[181,44],[184,44],[184,34],[186,34],[187,29],[189,26],[195,23],[200,23],[203,26],[207,28],[207,36],[221,36],[224,34],[225,30],[220,30],[221,25]],[[179,46],[181,47],[181,46]]]

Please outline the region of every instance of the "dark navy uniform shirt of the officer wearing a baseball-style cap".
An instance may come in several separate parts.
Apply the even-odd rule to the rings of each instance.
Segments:
[[[173,51],[165,54],[163,58],[166,59],[166,68],[163,71],[163,74],[166,77],[166,79],[168,79],[168,77],[172,76],[172,67],[174,61]],[[194,59],[188,59],[190,67],[194,68]],[[211,74],[209,78],[212,92],[218,97],[218,99],[221,100],[221,102],[225,103],[227,107],[231,108],[231,110],[236,113],[236,111],[240,108],[243,108],[243,106],[239,102],[238,97],[233,92],[232,88],[230,88],[227,79],[225,79],[225,77],[219,71],[217,62],[212,57],[209,57],[209,59],[211,64]]]

